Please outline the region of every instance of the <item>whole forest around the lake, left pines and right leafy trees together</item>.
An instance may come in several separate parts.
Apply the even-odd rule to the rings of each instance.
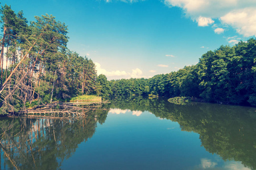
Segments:
[[[108,80],[92,59],[67,48],[68,27],[52,15],[28,22],[23,11],[1,7],[1,113],[26,109],[36,101],[73,96],[187,96],[202,101],[256,105],[256,39],[209,51],[196,65],[150,79]]]

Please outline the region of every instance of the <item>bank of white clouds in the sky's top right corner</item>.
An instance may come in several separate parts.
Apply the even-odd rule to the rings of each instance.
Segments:
[[[183,9],[186,16],[207,26],[220,20],[245,37],[256,36],[256,1],[251,0],[164,0],[168,6]]]

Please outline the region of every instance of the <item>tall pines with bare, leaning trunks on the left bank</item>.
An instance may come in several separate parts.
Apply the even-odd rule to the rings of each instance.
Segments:
[[[93,61],[67,48],[68,27],[52,15],[28,22],[23,11],[1,7],[1,113],[24,109],[34,100],[47,103],[96,93]]]

